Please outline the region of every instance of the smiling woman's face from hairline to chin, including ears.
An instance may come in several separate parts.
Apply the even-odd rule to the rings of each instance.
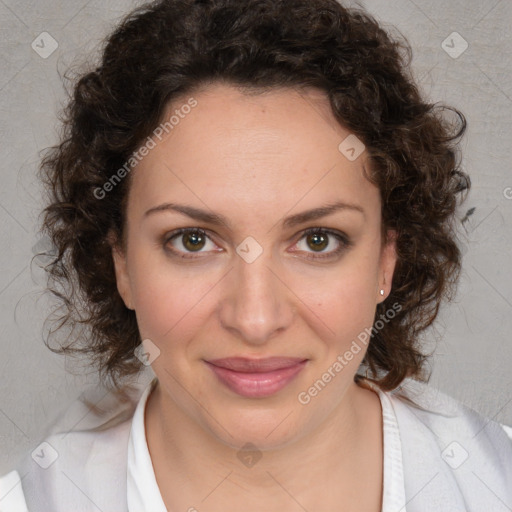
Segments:
[[[118,289],[180,417],[233,447],[284,446],[355,396],[394,244],[323,93],[194,99],[132,171]]]

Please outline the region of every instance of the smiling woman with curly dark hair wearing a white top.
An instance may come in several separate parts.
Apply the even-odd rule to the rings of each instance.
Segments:
[[[42,167],[60,325],[89,328],[61,351],[109,392],[10,474],[29,510],[510,506],[506,427],[426,385],[469,178],[408,51],[334,0],[166,0],[110,36]]]

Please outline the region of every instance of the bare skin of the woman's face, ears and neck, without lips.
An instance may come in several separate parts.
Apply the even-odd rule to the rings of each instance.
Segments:
[[[349,161],[339,151],[350,132],[315,89],[248,95],[214,84],[193,96],[197,107],[132,171],[126,250],[113,246],[119,293],[142,339],[160,350],[145,425],[164,502],[209,512],[338,511],[340,503],[378,511],[382,411],[376,393],[353,380],[364,345],[309,404],[297,398],[372,326],[389,294],[396,250],[393,233],[381,238],[366,153]],[[363,213],[283,225],[336,201]],[[215,212],[229,226],[170,210],[145,215],[163,203]],[[190,236],[169,240],[179,228],[207,232],[199,252]],[[308,228],[351,243],[324,233],[319,252]],[[263,250],[252,263],[236,252],[249,236]],[[246,398],[204,363],[233,356],[308,363],[273,396]],[[252,467],[237,457],[246,443],[262,455]]]

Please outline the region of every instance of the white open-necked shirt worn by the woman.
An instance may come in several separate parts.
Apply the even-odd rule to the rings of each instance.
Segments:
[[[2,512],[166,512],[144,427],[154,381],[129,400],[75,401],[36,453],[0,478]],[[373,387],[373,386],[372,386]],[[482,512],[512,507],[512,429],[426,384],[379,395],[383,414],[382,512]],[[71,427],[71,428],[70,428]],[[32,452],[33,455],[34,452]],[[44,465],[44,464],[43,464]],[[20,476],[21,475],[21,482]]]

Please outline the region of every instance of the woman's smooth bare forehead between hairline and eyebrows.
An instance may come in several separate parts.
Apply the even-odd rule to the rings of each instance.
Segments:
[[[196,106],[182,108],[191,98]],[[245,94],[219,84],[174,101],[163,121],[173,115],[172,130],[133,171],[134,208],[177,198],[216,211],[339,200],[379,207],[378,191],[363,175],[366,154],[351,161],[340,151],[354,136],[321,91]]]

